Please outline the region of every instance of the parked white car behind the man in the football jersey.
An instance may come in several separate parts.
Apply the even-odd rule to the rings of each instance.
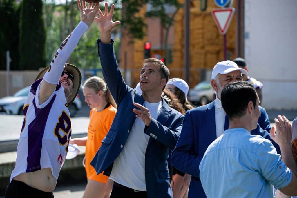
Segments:
[[[0,98],[0,112],[6,112],[8,114],[23,115],[23,106],[28,97],[31,86],[22,88],[13,96],[6,96]],[[69,105],[70,116],[74,116],[75,113],[81,108],[81,101],[77,95],[73,103]]]

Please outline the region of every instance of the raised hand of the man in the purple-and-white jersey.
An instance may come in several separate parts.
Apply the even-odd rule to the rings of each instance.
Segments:
[[[80,10],[81,21],[83,21],[90,27],[99,9],[99,3],[96,3],[94,7],[92,7],[93,6],[92,3],[89,3],[89,7],[87,7],[86,1],[82,1],[82,5],[81,5],[80,0],[78,0],[77,4]]]

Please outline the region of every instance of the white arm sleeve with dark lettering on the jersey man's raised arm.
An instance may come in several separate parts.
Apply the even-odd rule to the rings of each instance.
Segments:
[[[50,84],[59,84],[61,73],[65,67],[67,59],[78,44],[80,37],[88,28],[87,24],[81,21],[72,33],[62,42],[50,63],[48,72],[43,76],[43,80]]]

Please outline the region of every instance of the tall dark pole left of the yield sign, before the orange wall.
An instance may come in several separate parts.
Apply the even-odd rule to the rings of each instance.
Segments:
[[[189,84],[189,40],[190,40],[190,0],[185,0],[184,4],[184,80]]]

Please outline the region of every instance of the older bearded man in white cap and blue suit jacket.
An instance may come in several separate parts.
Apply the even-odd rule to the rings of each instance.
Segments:
[[[217,98],[210,104],[187,111],[185,115],[181,136],[172,153],[172,164],[178,170],[192,175],[189,198],[206,197],[199,179],[199,164],[208,145],[229,127],[229,119],[221,103],[222,89],[230,82],[241,81],[242,74],[247,74],[247,71],[233,61],[217,63],[211,75],[211,86],[217,92]],[[271,141],[265,129],[270,130],[271,127],[266,111],[260,107],[257,129],[252,130],[251,134],[261,135]]]

